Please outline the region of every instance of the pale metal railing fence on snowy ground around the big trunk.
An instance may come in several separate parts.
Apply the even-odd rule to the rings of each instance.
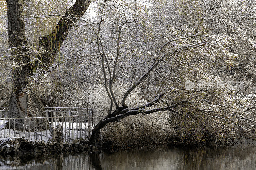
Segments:
[[[35,141],[52,138],[52,128],[62,126],[64,142],[72,143],[88,139],[95,123],[93,109],[69,107],[45,107],[45,117],[8,117],[8,107],[0,107],[0,137],[26,137]]]

